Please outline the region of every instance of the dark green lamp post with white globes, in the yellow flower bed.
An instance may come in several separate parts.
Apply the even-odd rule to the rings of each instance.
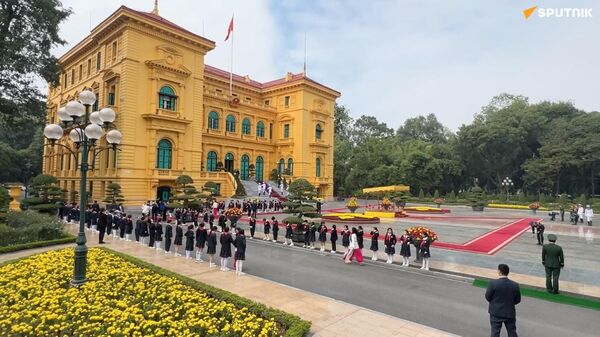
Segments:
[[[102,151],[116,151],[121,143],[121,132],[112,128],[112,122],[115,120],[115,112],[110,108],[104,108],[101,111],[90,113],[90,107],[96,102],[96,95],[90,90],[84,90],[79,94],[79,101],[71,101],[65,107],[58,110],[58,118],[62,122],[62,127],[58,124],[48,124],[44,128],[44,136],[48,139],[51,147],[55,145],[66,148],[70,154],[75,157],[77,162],[78,151],[81,152],[81,180],[79,188],[79,233],[77,234],[75,246],[75,261],[73,268],[73,279],[71,284],[79,286],[84,284],[87,268],[87,245],[85,237],[85,209],[87,205],[87,171],[89,169],[89,152],[92,151],[92,158]],[[64,129],[63,129],[64,127]],[[106,132],[105,130],[110,130]],[[68,134],[68,137],[65,135]],[[102,136],[106,135],[106,141],[110,147],[101,148],[96,146]],[[75,144],[75,151],[72,146],[59,143],[61,139],[70,139]],[[92,164],[93,165],[93,164]]]

